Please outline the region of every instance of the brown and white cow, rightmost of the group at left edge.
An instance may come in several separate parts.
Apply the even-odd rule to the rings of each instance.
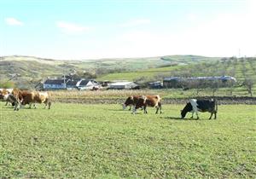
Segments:
[[[41,91],[32,91],[26,93],[26,95],[23,96],[23,100],[21,102],[22,105],[28,104],[29,107],[31,108],[32,104],[35,108],[36,103],[42,104],[44,103],[44,108],[48,106],[50,108],[51,106],[51,101],[49,99],[49,94],[48,92],[41,92]]]

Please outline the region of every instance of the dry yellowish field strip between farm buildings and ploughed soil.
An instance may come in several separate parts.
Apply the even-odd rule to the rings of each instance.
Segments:
[[[256,94],[256,89],[254,89]],[[68,99],[77,99],[78,101],[86,100],[98,100],[98,99],[119,99],[125,100],[130,95],[160,95],[165,99],[181,99],[181,98],[195,98],[200,96],[212,96],[212,89],[200,90],[197,93],[196,90],[182,90],[182,89],[163,89],[163,90],[99,90],[99,91],[86,91],[86,90],[62,90],[62,91],[49,91],[49,95],[53,101],[68,101]],[[237,88],[233,94],[230,95],[230,89],[219,89],[215,96],[248,96],[247,91],[244,88]]]

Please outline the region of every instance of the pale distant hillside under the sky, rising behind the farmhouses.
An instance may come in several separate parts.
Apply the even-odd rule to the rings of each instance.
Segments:
[[[0,82],[13,81],[20,88],[33,88],[46,77],[60,77],[63,73],[92,72],[108,77],[114,72],[139,72],[161,66],[178,66],[219,58],[197,55],[169,55],[148,58],[119,58],[84,61],[60,61],[32,56],[0,57]],[[107,75],[107,76],[106,76]]]

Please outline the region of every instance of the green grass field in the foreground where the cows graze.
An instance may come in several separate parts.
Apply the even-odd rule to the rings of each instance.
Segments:
[[[255,178],[256,106],[179,119],[183,106],[132,115],[119,105],[0,103],[0,178]]]

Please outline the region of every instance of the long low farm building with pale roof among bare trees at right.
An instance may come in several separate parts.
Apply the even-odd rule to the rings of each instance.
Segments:
[[[230,76],[221,77],[192,77],[192,78],[181,78],[171,77],[165,78],[163,81],[164,88],[210,88],[214,87],[230,87],[236,84],[236,78]]]

